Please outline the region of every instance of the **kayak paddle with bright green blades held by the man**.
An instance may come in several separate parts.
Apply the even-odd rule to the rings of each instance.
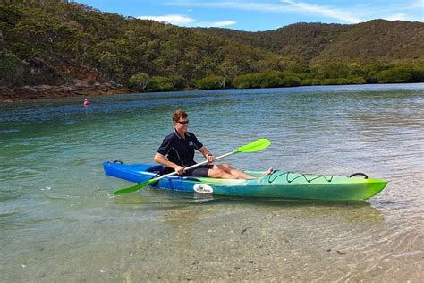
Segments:
[[[230,156],[230,155],[235,154],[235,153],[240,153],[240,152],[247,153],[247,152],[255,152],[255,151],[259,151],[259,150],[264,150],[270,144],[271,144],[271,142],[269,142],[267,139],[259,139],[259,140],[256,140],[255,142],[250,142],[248,144],[245,144],[242,147],[238,148],[237,150],[233,150],[233,151],[228,152],[228,153],[226,153],[224,155],[221,155],[221,156],[217,157],[215,160],[217,160],[217,159],[224,159],[225,157]],[[185,170],[190,170],[192,168],[199,167],[199,166],[202,166],[202,165],[207,164],[207,163],[208,163],[208,161],[203,161],[203,162],[200,162],[198,164],[192,165],[190,167],[186,167]],[[163,176],[159,176],[157,178],[152,178],[152,179],[150,179],[148,181],[145,181],[143,183],[136,184],[136,185],[133,185],[131,187],[118,190],[118,191],[114,192],[114,195],[116,195],[116,194],[123,194],[123,193],[132,193],[132,192],[138,191],[143,186],[145,186],[146,184],[155,183],[155,182],[159,181],[162,178],[165,178],[167,176],[173,176],[175,174],[177,174],[177,173],[176,172],[173,172],[173,173],[169,173],[169,174],[166,174],[166,175],[163,175]]]

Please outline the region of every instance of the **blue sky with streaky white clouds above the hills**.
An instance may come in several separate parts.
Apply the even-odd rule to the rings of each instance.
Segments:
[[[424,21],[424,0],[76,0],[102,12],[182,27],[276,30],[296,22]]]

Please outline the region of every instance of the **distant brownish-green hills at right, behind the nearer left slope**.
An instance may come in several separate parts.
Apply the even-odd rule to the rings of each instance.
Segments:
[[[202,30],[308,63],[315,58],[318,60],[313,62],[343,60],[362,64],[424,60],[422,22],[375,20],[356,25],[301,22],[259,32]]]

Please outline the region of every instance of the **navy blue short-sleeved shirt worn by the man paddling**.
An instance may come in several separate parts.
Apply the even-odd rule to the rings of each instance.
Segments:
[[[194,150],[200,150],[203,144],[199,142],[194,133],[185,133],[185,140],[174,129],[173,133],[165,136],[164,141],[157,149],[157,152],[182,167],[189,167],[196,164],[194,161]]]

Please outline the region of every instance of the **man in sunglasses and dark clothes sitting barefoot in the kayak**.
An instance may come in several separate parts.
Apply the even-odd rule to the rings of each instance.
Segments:
[[[174,132],[168,134],[157,150],[154,160],[165,167],[175,170],[178,175],[184,174],[184,167],[196,164],[194,161],[194,150],[199,150],[208,159],[208,164],[192,168],[185,172],[187,176],[208,176],[211,178],[225,179],[255,179],[228,164],[212,165],[215,157],[196,138],[193,133],[187,131],[189,118],[187,113],[178,109],[173,113]],[[167,158],[166,158],[167,157]],[[272,172],[269,168],[267,174]]]

